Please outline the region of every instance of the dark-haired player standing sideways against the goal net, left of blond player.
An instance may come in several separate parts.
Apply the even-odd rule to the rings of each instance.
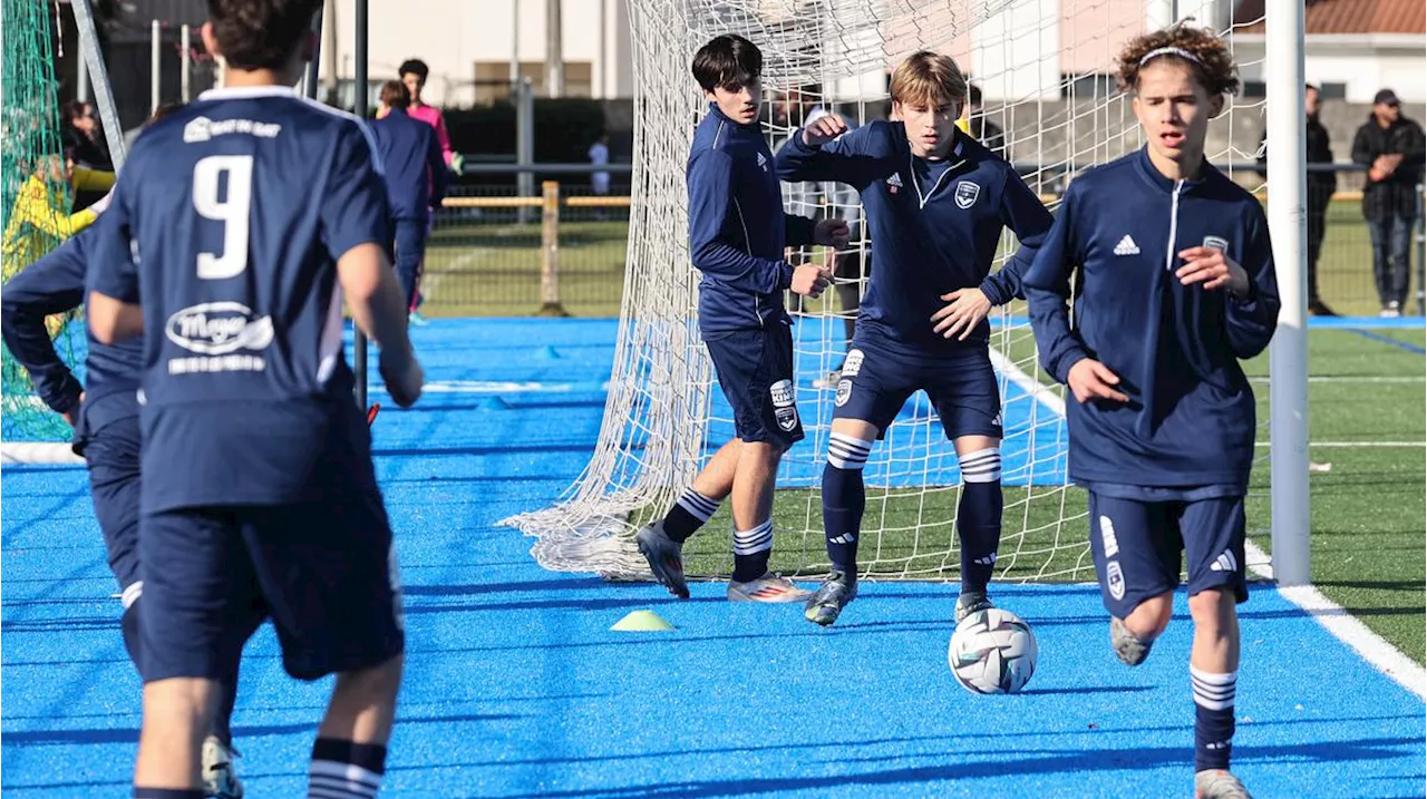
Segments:
[[[689,255],[704,273],[699,331],[733,408],[736,438],[719,448],[669,508],[636,534],[654,576],[689,596],[682,549],[733,495],[735,602],[795,602],[808,592],[768,571],[773,484],[782,454],[803,437],[793,397],[792,320],[783,291],[818,297],[828,274],[793,267],[783,245],[845,247],[848,225],[783,214],[773,156],[758,124],[763,54],[741,36],[719,36],[694,56],[709,111],[689,150]]]

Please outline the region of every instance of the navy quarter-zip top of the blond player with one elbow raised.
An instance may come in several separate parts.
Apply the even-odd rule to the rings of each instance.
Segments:
[[[1020,297],[1020,275],[1052,223],[1010,164],[960,131],[945,166],[913,156],[902,123],[876,120],[818,147],[798,131],[778,154],[778,175],[836,180],[862,194],[876,268],[858,334],[903,350],[983,347],[990,332],[985,321],[966,341],[932,330],[932,315],[946,305],[940,295],[980,288],[993,305]],[[1020,250],[990,274],[1006,228]]]

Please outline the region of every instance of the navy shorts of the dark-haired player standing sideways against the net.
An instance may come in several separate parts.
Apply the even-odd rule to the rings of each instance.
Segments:
[[[704,337],[729,407],[733,432],[748,442],[788,449],[802,441],[793,391],[793,334],[788,322]]]

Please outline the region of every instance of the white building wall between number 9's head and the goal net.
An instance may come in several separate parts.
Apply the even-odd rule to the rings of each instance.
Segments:
[[[628,97],[634,93],[629,63],[629,0],[564,0],[561,36],[567,61],[589,61],[595,94]],[[337,77],[352,77],[355,0],[335,0]],[[519,40],[515,41],[515,11]],[[601,30],[604,23],[604,30]],[[477,61],[545,60],[545,0],[382,0],[370,3],[368,76],[395,77],[407,58],[431,67],[424,98],[432,104],[468,104]],[[324,41],[330,39],[324,37]],[[604,43],[605,68],[601,68]],[[332,63],[323,58],[325,66]]]

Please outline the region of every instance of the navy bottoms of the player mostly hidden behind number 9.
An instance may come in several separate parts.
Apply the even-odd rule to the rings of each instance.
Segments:
[[[120,591],[138,582],[140,441],[138,417],[111,421],[83,439],[94,518]]]

